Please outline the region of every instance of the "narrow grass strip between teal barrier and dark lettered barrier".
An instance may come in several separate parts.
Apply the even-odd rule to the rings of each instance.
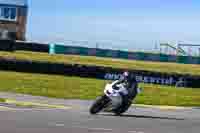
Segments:
[[[200,75],[200,65],[192,65],[192,64],[122,60],[122,59],[100,58],[91,56],[49,55],[48,53],[34,53],[34,52],[24,52],[24,51],[17,51],[13,53],[0,52],[0,57],[27,59],[34,61],[69,63],[69,64],[78,63],[78,64],[98,65],[98,66],[125,68],[133,70],[149,70],[155,72]]]

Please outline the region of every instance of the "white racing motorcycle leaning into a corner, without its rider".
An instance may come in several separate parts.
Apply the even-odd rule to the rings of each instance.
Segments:
[[[111,112],[116,115],[121,115],[126,112],[132,104],[133,99],[128,99],[126,105],[122,106],[122,95],[127,95],[128,90],[125,88],[125,84],[117,85],[117,89],[113,85],[118,82],[108,83],[104,89],[104,95],[97,97],[92,106],[90,107],[91,114],[97,114],[99,112]],[[138,94],[141,92],[140,88],[137,88],[135,92]]]

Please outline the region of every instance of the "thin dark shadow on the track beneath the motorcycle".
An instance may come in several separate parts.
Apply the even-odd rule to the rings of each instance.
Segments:
[[[117,116],[114,114],[98,114],[98,115],[103,115],[103,116]],[[122,114],[119,115],[118,117],[129,117],[129,118],[141,118],[141,119],[159,119],[159,120],[179,120],[183,121],[185,120],[184,118],[172,118],[172,117],[160,117],[160,116],[147,116],[147,115],[129,115],[129,114]]]

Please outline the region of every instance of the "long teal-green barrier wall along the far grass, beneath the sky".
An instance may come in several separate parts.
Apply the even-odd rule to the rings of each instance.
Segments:
[[[144,61],[200,64],[200,57],[174,56],[174,55],[153,54],[153,53],[143,53],[143,52],[128,52],[119,50],[95,49],[95,48],[73,47],[73,46],[63,46],[63,45],[55,45],[54,52],[55,54],[76,54],[84,56],[112,57],[112,58],[144,60]]]

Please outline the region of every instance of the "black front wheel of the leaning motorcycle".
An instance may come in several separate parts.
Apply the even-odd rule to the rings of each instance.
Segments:
[[[90,108],[90,113],[97,114],[105,107],[105,105],[107,105],[109,101],[110,99],[106,95],[97,98]]]

